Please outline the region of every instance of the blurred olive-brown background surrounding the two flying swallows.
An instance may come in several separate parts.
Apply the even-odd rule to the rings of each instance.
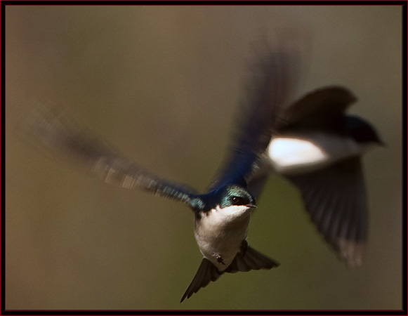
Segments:
[[[7,6],[7,309],[400,309],[402,9],[398,6]],[[281,263],[180,304],[202,259],[189,209],[125,190],[15,136],[38,106],[166,178],[204,190],[223,159],[261,29],[307,30],[291,98],[340,84],[387,147],[364,157],[370,235],[346,268],[272,176],[249,243]],[[267,34],[268,34],[267,32]]]

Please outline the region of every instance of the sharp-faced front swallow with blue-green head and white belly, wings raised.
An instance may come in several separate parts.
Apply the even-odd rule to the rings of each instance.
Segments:
[[[273,128],[273,110],[284,100],[287,59],[282,52],[267,52],[257,62],[239,115],[237,134],[227,162],[210,185],[198,194],[126,159],[110,145],[77,127],[61,112],[35,112],[25,126],[27,135],[48,152],[76,160],[108,183],[138,187],[154,195],[182,202],[194,213],[195,239],[203,255],[197,274],[181,298],[190,298],[223,273],[271,269],[277,261],[246,242],[249,219],[256,207],[247,183],[263,161]]]

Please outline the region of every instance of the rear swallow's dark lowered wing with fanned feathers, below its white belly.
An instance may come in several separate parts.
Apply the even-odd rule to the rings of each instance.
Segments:
[[[360,265],[368,226],[360,159],[287,178],[301,191],[305,209],[326,241],[348,265]]]

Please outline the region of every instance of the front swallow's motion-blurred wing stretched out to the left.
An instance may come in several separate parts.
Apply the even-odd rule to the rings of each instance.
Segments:
[[[31,143],[46,152],[74,160],[107,183],[142,188],[168,199],[190,204],[195,191],[171,183],[126,159],[58,110],[33,112],[22,126]]]

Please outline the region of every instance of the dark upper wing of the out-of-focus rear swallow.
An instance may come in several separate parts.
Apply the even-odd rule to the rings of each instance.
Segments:
[[[343,126],[344,112],[356,100],[351,91],[341,86],[317,89],[284,109],[276,128],[316,126],[319,129],[336,129]]]

